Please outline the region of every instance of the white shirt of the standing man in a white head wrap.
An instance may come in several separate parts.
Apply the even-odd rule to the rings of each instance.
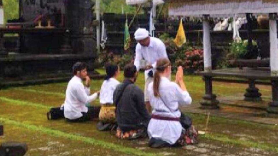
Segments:
[[[134,65],[137,70],[140,67],[140,60],[144,59],[147,64],[156,68],[156,61],[160,58],[168,58],[165,44],[158,38],[150,37],[150,44],[144,47],[141,44],[136,45]],[[147,79],[150,70],[145,70],[145,79]]]

